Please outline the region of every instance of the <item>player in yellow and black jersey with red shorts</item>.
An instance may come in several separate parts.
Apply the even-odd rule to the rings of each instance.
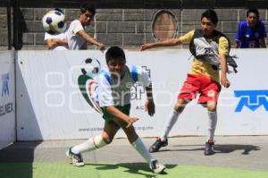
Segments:
[[[201,15],[201,29],[191,30],[180,38],[167,39],[163,42],[147,43],[141,50],[154,47],[172,47],[181,43],[189,43],[190,52],[194,55],[192,69],[180,90],[172,113],[163,126],[160,137],[150,147],[150,152],[168,144],[167,136],[176,123],[185,106],[200,93],[198,102],[207,107],[208,134],[205,141],[205,155],[214,154],[214,131],[217,123],[217,100],[221,91],[221,84],[228,88],[227,62],[230,43],[220,31],[215,30],[218,18],[214,10],[206,10]],[[220,67],[221,66],[221,67]],[[219,72],[221,71],[221,78]],[[220,84],[221,83],[221,84]]]

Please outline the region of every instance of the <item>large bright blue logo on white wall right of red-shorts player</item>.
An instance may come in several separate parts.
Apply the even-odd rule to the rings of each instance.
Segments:
[[[236,90],[235,97],[240,97],[239,104],[235,112],[241,112],[244,106],[247,106],[251,111],[255,111],[260,106],[264,106],[268,111],[268,90]]]

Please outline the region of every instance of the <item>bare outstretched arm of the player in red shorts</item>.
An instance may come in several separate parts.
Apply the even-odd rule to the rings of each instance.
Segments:
[[[140,50],[145,51],[147,49],[155,47],[173,47],[180,44],[181,44],[180,38],[172,38],[156,43],[145,43],[141,46]]]

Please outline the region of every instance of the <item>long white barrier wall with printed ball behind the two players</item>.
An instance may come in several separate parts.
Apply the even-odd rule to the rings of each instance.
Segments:
[[[267,50],[231,50],[238,55],[239,73],[229,75],[231,86],[222,89],[218,107],[218,135],[268,134]],[[142,137],[155,137],[162,130],[192,60],[187,49],[126,51],[129,64],[143,66],[154,86],[156,113],[144,112],[145,90],[132,88],[131,115]],[[86,139],[99,133],[104,120],[82,97],[78,88],[81,63],[100,51],[19,51],[17,64],[18,140]],[[205,135],[206,109],[192,101],[170,136]],[[116,137],[125,137],[120,131]]]

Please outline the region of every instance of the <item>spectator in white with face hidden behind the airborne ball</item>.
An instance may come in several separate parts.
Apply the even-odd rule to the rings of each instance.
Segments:
[[[55,8],[54,10],[63,13],[61,9]],[[44,40],[50,50],[68,50],[67,29],[57,35],[46,32]]]

